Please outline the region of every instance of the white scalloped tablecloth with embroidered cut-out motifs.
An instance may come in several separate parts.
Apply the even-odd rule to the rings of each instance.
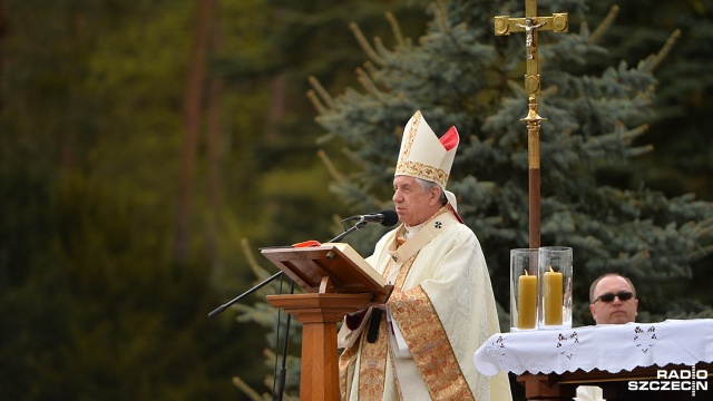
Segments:
[[[713,362],[713,320],[599,324],[569,330],[494,334],[473,355],[486,375],[563,373],[593,369],[616,373],[636,366]]]

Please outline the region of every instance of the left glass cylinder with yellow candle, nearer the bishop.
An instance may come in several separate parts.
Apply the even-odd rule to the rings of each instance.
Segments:
[[[537,329],[538,250],[510,250],[510,331]]]

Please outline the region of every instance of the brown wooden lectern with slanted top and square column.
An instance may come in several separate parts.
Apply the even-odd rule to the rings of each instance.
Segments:
[[[393,286],[348,244],[261,253],[306,291],[267,295],[270,304],[303,325],[300,400],[339,401],[336,323],[345,314],[385,303]]]

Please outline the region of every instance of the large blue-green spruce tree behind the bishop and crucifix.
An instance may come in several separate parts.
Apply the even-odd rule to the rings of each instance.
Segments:
[[[539,35],[541,244],[572,246],[576,324],[592,323],[588,286],[616,271],[642,299],[639,319],[710,315],[695,300],[664,293],[690,283],[691,265],[711,254],[713,205],[693,195],[666,196],[643,185],[607,182],[612,166],[651,151],[634,141],[654,118],[655,67],[662,50],[629,66],[587,69],[607,49],[597,45],[609,20],[589,28],[586,1],[539,1],[539,12],[569,13],[569,33]],[[455,125],[461,144],[449,189],[486,252],[496,297],[507,310],[508,255],[527,247],[527,114],[524,38],[495,37],[492,18],[521,17],[521,1],[439,1],[418,45],[362,45],[369,61],[362,88],[332,97],[313,81],[318,123],[345,140],[358,169],[343,170],[332,189],[354,211],[390,205],[393,166],[404,123],[421,110],[437,133]],[[641,139],[639,139],[641,140]],[[377,234],[374,234],[377,235]],[[368,252],[373,238],[363,238]],[[677,292],[685,294],[682,292]],[[673,297],[673,300],[672,300]],[[505,323],[507,320],[501,319]],[[504,324],[504,330],[507,325]]]

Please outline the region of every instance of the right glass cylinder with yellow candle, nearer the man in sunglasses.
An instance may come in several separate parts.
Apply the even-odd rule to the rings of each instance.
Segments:
[[[572,248],[539,248],[538,329],[572,329]]]

